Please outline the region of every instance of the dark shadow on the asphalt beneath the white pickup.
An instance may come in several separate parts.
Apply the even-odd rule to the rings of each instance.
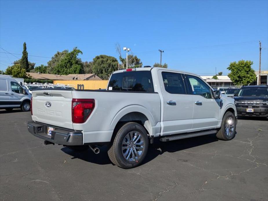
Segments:
[[[201,145],[209,144],[212,142],[218,141],[215,134],[206,135],[206,136],[198,136],[194,138],[186,138],[181,140],[174,140],[170,142],[160,142],[157,138],[154,139],[154,143],[149,145],[149,149],[147,152],[147,156],[143,160],[141,165],[144,165],[147,162],[155,159],[158,155],[161,155],[165,152],[177,152],[184,149],[189,149],[192,147],[198,147]],[[111,164],[111,161],[107,154],[107,146],[102,146],[100,148],[99,154],[94,154],[91,149],[87,151],[73,151],[68,147],[63,147],[61,150],[73,156],[74,158],[79,158],[81,160],[96,163],[99,165]]]

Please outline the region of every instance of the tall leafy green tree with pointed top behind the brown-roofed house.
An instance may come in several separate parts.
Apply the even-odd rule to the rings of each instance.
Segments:
[[[81,59],[77,58],[78,54],[83,54],[83,52],[77,47],[71,52],[68,52],[61,58],[61,60],[56,63],[52,69],[53,74],[68,75],[68,74],[80,74],[83,71],[83,62]]]

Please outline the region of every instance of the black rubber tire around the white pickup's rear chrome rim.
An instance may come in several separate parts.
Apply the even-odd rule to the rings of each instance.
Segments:
[[[122,143],[123,140],[126,139],[127,134],[134,134],[135,132],[138,133],[138,135],[140,135],[140,140],[136,141],[137,144],[141,143],[141,139],[143,140],[143,150],[142,153],[137,157],[138,159],[135,159],[134,161],[130,161],[127,160],[124,156],[123,156],[123,150],[122,150]],[[130,134],[130,135],[132,135]],[[135,137],[135,136],[134,136]],[[133,138],[133,146],[134,146],[134,138]],[[131,142],[131,141],[130,141]],[[128,145],[126,145],[128,146]],[[134,150],[135,152],[137,152],[139,149],[138,148],[139,145],[136,145],[137,147],[132,148],[132,150]],[[112,161],[112,163],[114,165],[117,165],[118,167],[124,168],[124,169],[130,169],[133,167],[137,167],[138,165],[141,164],[141,162],[143,161],[143,159],[145,158],[147,151],[148,151],[148,146],[149,146],[149,140],[148,140],[148,135],[146,130],[138,123],[135,122],[128,122],[125,123],[116,133],[114,140],[112,140],[109,148],[108,148],[108,156],[110,158],[110,160]],[[142,147],[142,146],[141,146]],[[128,148],[125,148],[128,149]],[[131,150],[131,148],[130,148]],[[132,152],[134,153],[134,151],[129,151],[128,153]],[[132,158],[133,155],[131,154]],[[134,156],[136,156],[136,153],[134,154]]]

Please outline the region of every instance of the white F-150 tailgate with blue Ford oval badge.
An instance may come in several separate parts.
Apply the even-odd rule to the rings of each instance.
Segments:
[[[56,127],[73,129],[72,91],[33,91],[32,120]]]

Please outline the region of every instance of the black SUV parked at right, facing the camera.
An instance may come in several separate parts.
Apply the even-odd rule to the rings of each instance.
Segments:
[[[238,116],[268,117],[268,86],[244,86],[235,94]]]

